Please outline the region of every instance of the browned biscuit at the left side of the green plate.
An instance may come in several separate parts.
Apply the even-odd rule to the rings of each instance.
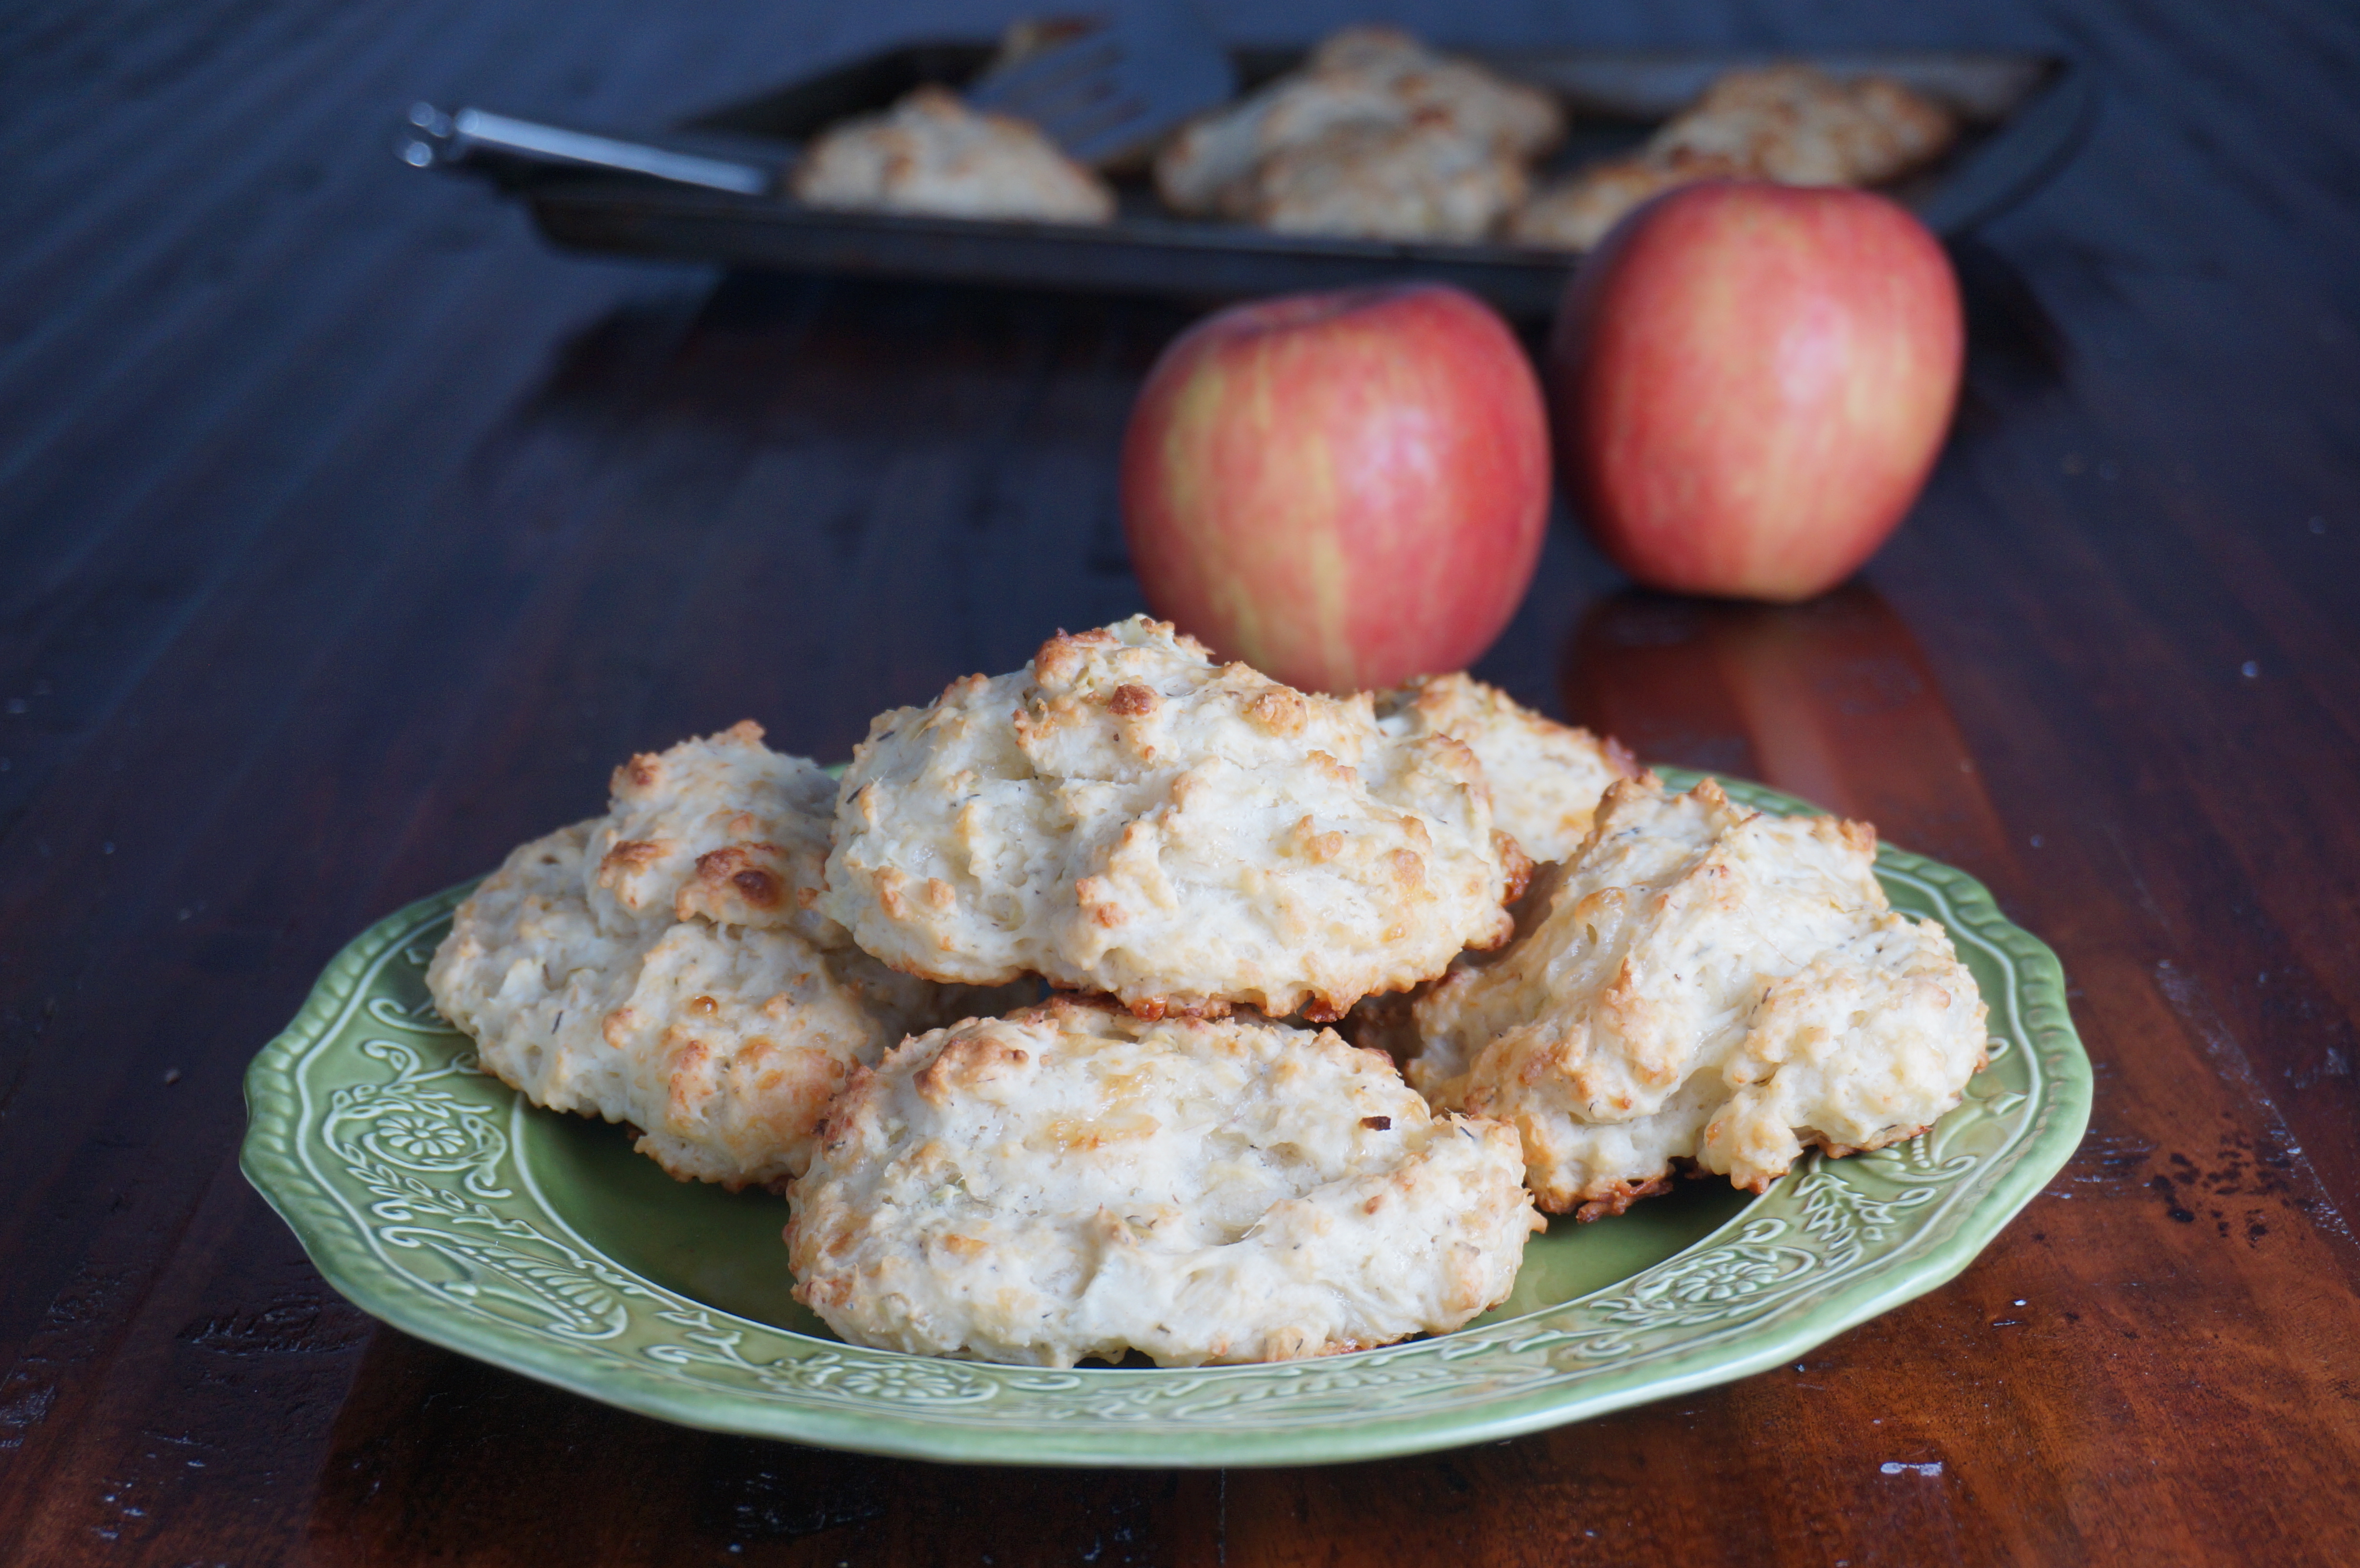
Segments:
[[[458,907],[427,968],[434,1004],[500,1082],[642,1129],[673,1176],[800,1171],[857,1063],[1015,1001],[897,975],[809,912],[826,808],[805,770],[833,796],[750,725],[632,758],[607,817],[522,845]],[[736,867],[720,888],[715,864]]]

